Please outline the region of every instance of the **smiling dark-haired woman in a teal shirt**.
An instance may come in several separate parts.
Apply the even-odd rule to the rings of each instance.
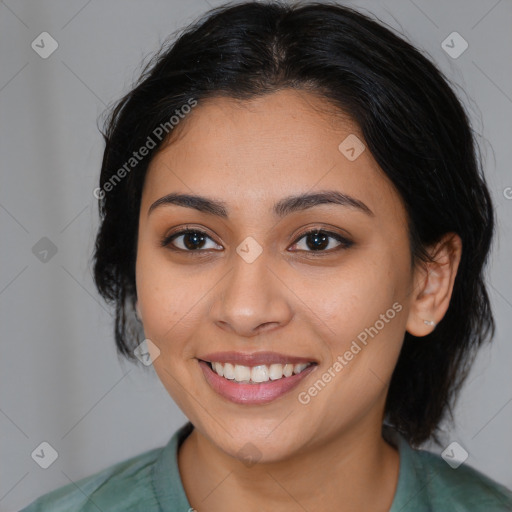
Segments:
[[[95,281],[190,422],[26,511],[512,510],[414,449],[494,332],[492,204],[431,62],[345,7],[225,6],[105,140]]]

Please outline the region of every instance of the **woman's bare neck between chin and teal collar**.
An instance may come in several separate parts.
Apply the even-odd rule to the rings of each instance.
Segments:
[[[389,511],[399,455],[381,436],[380,422],[357,424],[285,461],[245,466],[197,429],[184,441],[178,465],[198,511]],[[264,498],[263,498],[264,497]],[[253,508],[251,508],[253,507]]]

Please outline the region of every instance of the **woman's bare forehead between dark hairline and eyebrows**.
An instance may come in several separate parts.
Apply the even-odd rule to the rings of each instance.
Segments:
[[[363,142],[356,123],[308,92],[210,98],[153,158],[142,207],[180,191],[222,198],[237,211],[251,205],[270,212],[281,197],[334,189],[377,215],[403,215],[397,192],[369,150],[347,158],[353,156],[347,148],[360,151],[358,139]]]

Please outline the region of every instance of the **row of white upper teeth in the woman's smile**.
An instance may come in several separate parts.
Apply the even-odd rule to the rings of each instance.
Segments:
[[[243,366],[240,364],[232,365],[231,363],[211,363],[213,371],[229,380],[236,382],[268,382],[269,380],[279,380],[283,377],[291,377],[293,374],[298,374],[304,371],[312,363],[301,364],[265,364],[258,366]]]

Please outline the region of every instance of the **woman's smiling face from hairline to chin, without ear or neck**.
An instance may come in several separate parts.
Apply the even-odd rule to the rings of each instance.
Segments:
[[[235,457],[380,432],[413,289],[406,214],[358,127],[328,108],[293,90],[210,99],[146,176],[136,278],[154,368]],[[155,205],[169,194],[202,201]],[[186,229],[206,235],[172,238]]]

